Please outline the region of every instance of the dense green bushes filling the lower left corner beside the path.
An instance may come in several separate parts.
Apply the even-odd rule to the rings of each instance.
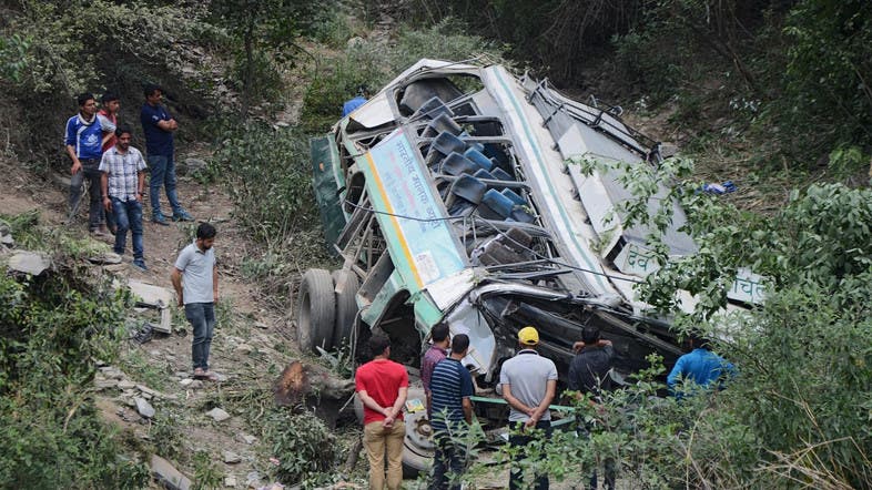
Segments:
[[[120,455],[91,388],[95,359],[118,356],[129,295],[58,267],[0,268],[0,487],[141,488],[148,471]]]

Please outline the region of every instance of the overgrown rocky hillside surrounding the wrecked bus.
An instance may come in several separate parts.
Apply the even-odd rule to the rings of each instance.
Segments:
[[[192,488],[365,488],[351,388],[326,400],[308,382],[342,385],[355,359],[296,343],[301,275],[341,266],[324,246],[308,140],[358,88],[377,90],[426,57],[549,76],[579,100],[620,105],[630,125],[678,150],[646,177],[673,188],[700,252],[661,254],[641,294],[679,336],[710,335],[739,366],[728,389],[677,401],[662,397],[662,359],[645,359],[600,405],[564,400],[590,422],[589,438],[559,432],[528,463],[555,488],[584,484],[607,457],[628,489],[872,488],[870,6],[3,3],[0,221],[14,246],[0,245],[0,487],[161,488],[159,474],[175,469]],[[89,236],[87,213],[64,220],[58,136],[75,95],[118,94],[142,149],[146,82],[165,89],[179,119],[176,162],[202,162],[180,177],[181,201],[219,231],[216,382],[192,378],[183,310],[170,308],[172,334],[140,344],[160,314],[120,287],[171,288],[194,224],[159,226],[146,214],[141,272],[129,254],[94,264],[111,246]],[[736,192],[699,192],[724,181]],[[17,270],[8,261],[21,251],[52,266]],[[767,300],[722,315],[721,278],[742,267],[765,278]],[[678,290],[699,308],[679,313]],[[483,442],[490,429],[475,426],[466,440],[469,488],[506,486],[511,455]]]

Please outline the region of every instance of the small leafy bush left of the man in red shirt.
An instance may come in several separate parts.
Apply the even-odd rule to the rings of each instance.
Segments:
[[[291,483],[327,481],[338,456],[336,438],[317,417],[280,407],[263,425],[263,437],[278,459],[275,474]]]

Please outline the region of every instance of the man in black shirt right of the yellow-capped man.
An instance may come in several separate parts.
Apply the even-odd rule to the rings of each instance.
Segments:
[[[611,363],[615,359],[615,348],[611,340],[600,338],[599,328],[587,326],[581,333],[581,341],[572,345],[576,357],[569,365],[569,389],[579,394],[592,394],[599,400],[602,391],[611,389]],[[588,432],[581,427],[580,430]],[[615,460],[606,458],[606,488],[615,489]],[[590,476],[590,488],[597,488],[596,469]]]

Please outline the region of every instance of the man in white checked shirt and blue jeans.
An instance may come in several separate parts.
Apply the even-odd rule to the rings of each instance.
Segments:
[[[103,207],[114,213],[115,253],[124,255],[128,229],[133,238],[133,266],[148,270],[142,251],[142,191],[145,187],[145,161],[142,153],[130,146],[133,134],[128,125],[115,130],[115,145],[103,153],[100,172],[103,173]]]

